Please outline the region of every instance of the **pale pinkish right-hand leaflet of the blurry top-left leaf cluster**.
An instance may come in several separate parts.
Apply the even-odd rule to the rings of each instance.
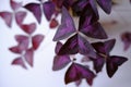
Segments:
[[[20,25],[20,26],[22,25],[26,14],[27,13],[23,12],[23,11],[19,11],[15,13],[15,20],[16,20],[17,25]]]

